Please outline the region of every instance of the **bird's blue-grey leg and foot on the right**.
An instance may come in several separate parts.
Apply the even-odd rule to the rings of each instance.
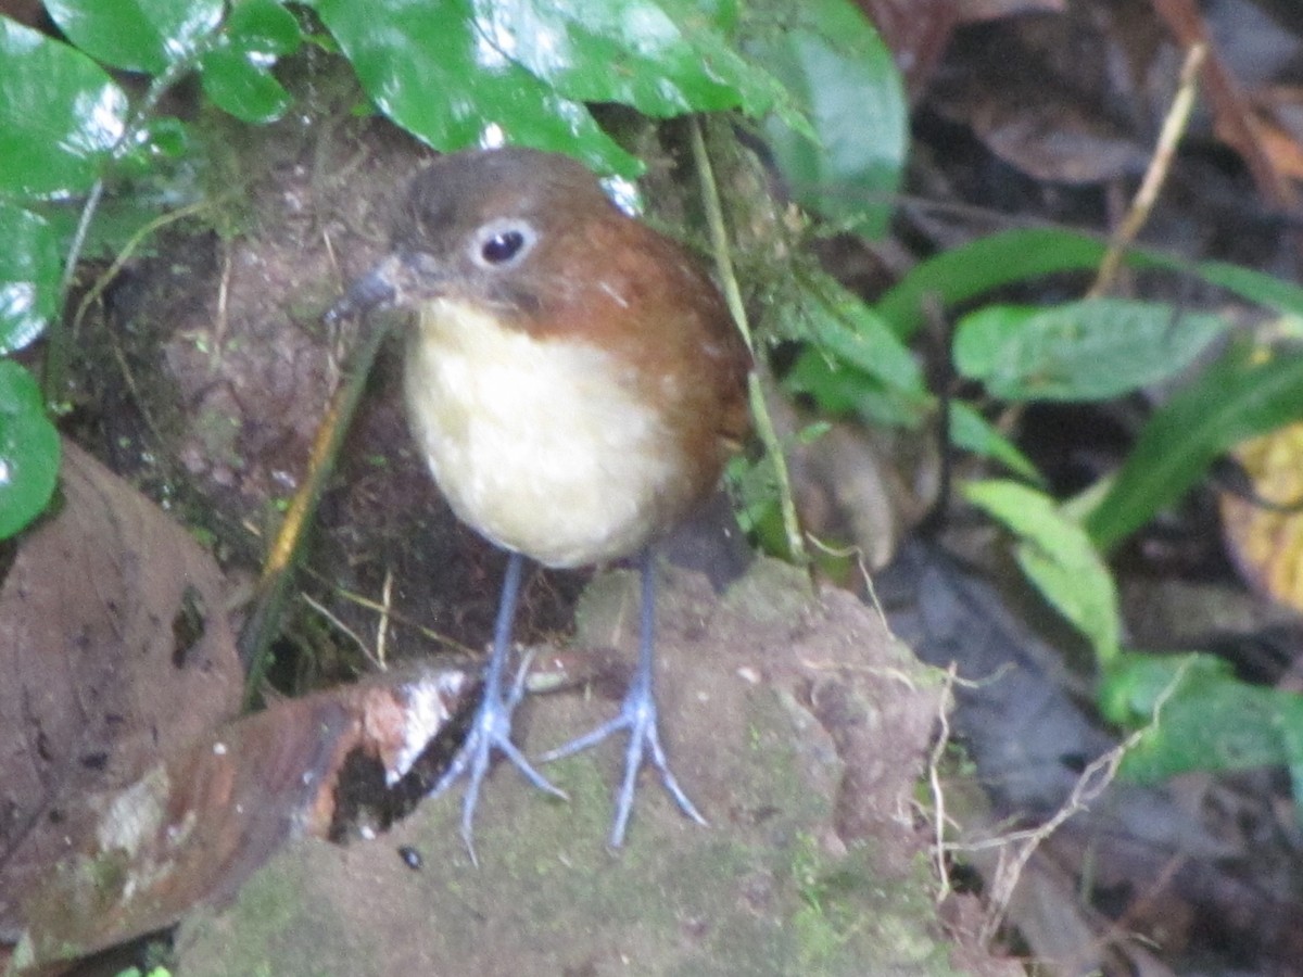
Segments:
[[[539,757],[545,763],[560,759],[601,743],[614,732],[629,731],[629,743],[624,750],[624,779],[616,796],[615,823],[611,826],[610,844],[612,848],[619,848],[624,843],[624,831],[629,823],[629,814],[633,812],[635,786],[644,758],[649,759],[652,766],[661,772],[661,783],[665,784],[665,789],[674,797],[679,809],[698,825],[706,823],[701,812],[688,800],[688,795],[683,792],[679,782],[670,772],[665,748],[661,745],[655,692],[652,688],[655,641],[655,561],[650,547],[644,550],[638,558],[638,569],[642,574],[642,601],[638,608],[638,664],[633,671],[633,680],[624,694],[619,714],[593,732]]]

